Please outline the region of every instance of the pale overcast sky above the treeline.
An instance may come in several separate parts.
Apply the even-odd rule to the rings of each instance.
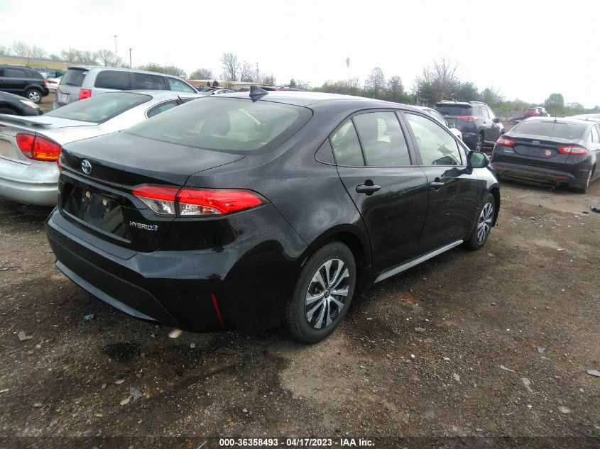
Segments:
[[[36,20],[23,21],[32,9]],[[535,103],[559,92],[590,108],[600,105],[599,33],[597,0],[0,0],[7,47],[114,51],[117,35],[117,53],[129,62],[133,48],[134,66],[218,75],[232,52],[278,84],[364,80],[381,67],[408,90],[444,57],[480,90]]]

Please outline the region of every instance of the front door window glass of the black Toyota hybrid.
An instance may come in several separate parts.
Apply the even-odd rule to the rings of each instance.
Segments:
[[[462,165],[458,144],[450,133],[428,118],[405,115],[417,139],[423,165]]]

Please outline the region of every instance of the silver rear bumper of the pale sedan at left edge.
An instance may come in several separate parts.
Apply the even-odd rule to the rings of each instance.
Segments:
[[[21,164],[0,158],[0,196],[36,206],[56,206],[58,167],[53,162]]]

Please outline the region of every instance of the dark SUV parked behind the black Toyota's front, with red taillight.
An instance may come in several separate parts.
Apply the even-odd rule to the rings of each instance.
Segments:
[[[481,151],[484,145],[493,145],[504,133],[500,119],[485,103],[481,101],[440,101],[435,110],[444,116],[448,123],[453,123],[462,133],[462,140],[471,150]]]

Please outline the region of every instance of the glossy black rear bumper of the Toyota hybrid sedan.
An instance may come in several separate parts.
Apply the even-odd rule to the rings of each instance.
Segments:
[[[58,209],[45,228],[56,266],[72,282],[126,314],[185,331],[280,326],[283,287],[293,289],[299,265],[266,244],[141,253],[84,231]]]

